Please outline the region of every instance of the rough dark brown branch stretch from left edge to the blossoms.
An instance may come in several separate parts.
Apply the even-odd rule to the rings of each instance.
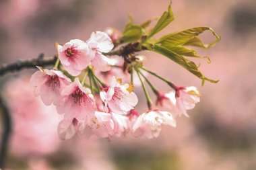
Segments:
[[[0,66],[0,76],[5,75],[5,73],[20,71],[22,69],[35,68],[36,66],[49,66],[54,65],[57,60],[57,56],[53,56],[51,58],[44,58],[44,54],[40,54],[37,58],[33,58],[30,60],[18,60],[17,62],[13,62],[9,65],[1,65]]]

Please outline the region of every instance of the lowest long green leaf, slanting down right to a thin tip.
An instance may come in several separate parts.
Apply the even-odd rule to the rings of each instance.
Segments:
[[[184,67],[185,69],[187,69],[193,75],[199,77],[202,80],[202,85],[205,82],[205,80],[210,81],[211,83],[218,83],[218,81],[216,81],[216,80],[208,79],[207,77],[205,77],[199,71],[197,65],[195,65],[195,62],[193,62],[191,60],[188,60],[187,58],[185,58],[185,56],[182,56],[181,54],[177,54],[176,52],[173,52],[172,50],[170,50],[170,49],[168,49],[164,46],[160,46],[158,44],[156,44],[154,46],[154,51],[158,52],[159,54],[163,54],[164,56],[170,58],[171,60],[173,60],[177,64],[179,64],[182,67]]]

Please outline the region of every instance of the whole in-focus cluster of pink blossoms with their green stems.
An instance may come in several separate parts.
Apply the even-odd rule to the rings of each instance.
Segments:
[[[59,138],[69,139],[77,133],[88,138],[110,138],[129,132],[136,137],[153,138],[159,135],[163,124],[175,127],[177,116],[189,117],[187,110],[199,102],[199,91],[195,87],[178,87],[166,79],[173,90],[158,91],[143,74],[142,71],[152,72],[142,67],[138,56],[131,54],[133,60],[123,65],[119,65],[119,59],[107,57],[120,34],[117,30],[106,33],[97,31],[87,41],[75,39],[57,44],[59,58],[55,67],[38,67],[39,71],[31,77],[34,95],[40,96],[45,105],[55,105],[63,115]],[[114,70],[117,68],[119,71]],[[143,114],[135,110],[138,97],[134,93],[133,71],[137,72],[137,81],[141,81],[148,101],[148,110]],[[127,75],[130,81],[123,83],[119,77]],[[157,95],[156,108],[152,107],[141,77]]]

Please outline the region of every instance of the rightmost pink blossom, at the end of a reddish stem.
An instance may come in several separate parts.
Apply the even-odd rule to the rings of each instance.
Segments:
[[[176,106],[185,116],[189,117],[187,110],[195,108],[200,101],[200,94],[196,87],[180,87],[176,91]]]

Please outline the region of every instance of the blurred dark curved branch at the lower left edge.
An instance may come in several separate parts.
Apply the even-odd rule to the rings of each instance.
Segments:
[[[1,135],[1,148],[0,148],[0,169],[5,168],[5,160],[7,156],[9,137],[11,135],[11,116],[6,105],[3,103],[3,99],[0,96],[0,109],[1,119],[3,124],[3,134]]]

